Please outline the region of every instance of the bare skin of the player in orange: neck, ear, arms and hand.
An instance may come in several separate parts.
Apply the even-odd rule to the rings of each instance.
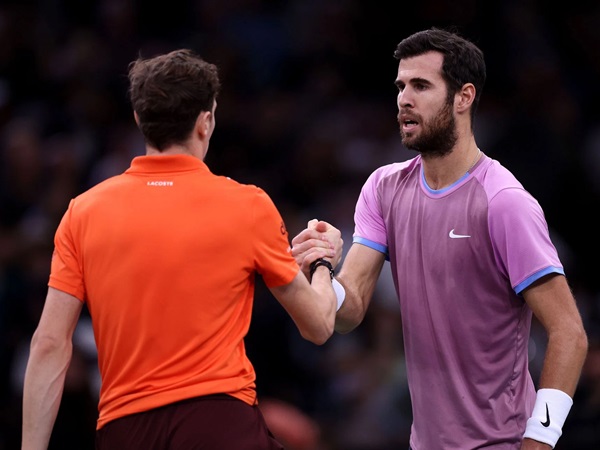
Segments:
[[[146,154],[188,154],[203,160],[216,125],[215,109],[216,102],[212,111],[199,114],[185,144],[174,145],[162,152],[147,146]],[[137,122],[137,114],[134,117]],[[331,241],[335,242],[333,244],[323,241],[324,245],[312,252],[315,259],[330,258],[337,264],[342,241],[340,236],[336,239]],[[271,288],[271,293],[305,339],[321,345],[333,334],[337,301],[326,267],[316,269],[312,283],[298,272],[289,284]],[[21,450],[48,448],[73,352],[73,332],[82,308],[83,302],[78,298],[48,288],[42,315],[31,340],[25,371]]]

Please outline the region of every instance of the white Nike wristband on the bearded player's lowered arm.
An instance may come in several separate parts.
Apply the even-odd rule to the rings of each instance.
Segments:
[[[554,448],[572,405],[573,399],[563,391],[540,389],[523,437],[535,439]]]

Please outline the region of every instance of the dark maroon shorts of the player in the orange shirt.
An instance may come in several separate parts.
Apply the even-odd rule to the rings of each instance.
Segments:
[[[218,394],[121,417],[96,432],[96,450],[283,450],[257,406]]]

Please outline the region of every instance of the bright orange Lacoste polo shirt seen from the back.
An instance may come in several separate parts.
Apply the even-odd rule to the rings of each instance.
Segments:
[[[97,428],[185,398],[256,402],[246,357],[255,274],[298,273],[260,188],[187,155],[140,156],[71,200],[49,285],[85,301],[102,376]]]

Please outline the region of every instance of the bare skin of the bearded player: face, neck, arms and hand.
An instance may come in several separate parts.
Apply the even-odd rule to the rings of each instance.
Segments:
[[[423,169],[432,189],[450,186],[479,158],[471,128],[470,110],[475,87],[466,83],[446,101],[446,85],[441,76],[443,56],[429,52],[403,59],[398,65],[398,123],[402,142],[422,155]],[[453,119],[448,121],[447,114]],[[448,123],[454,123],[454,134]],[[436,129],[450,148],[433,148]],[[292,254],[303,270],[315,258],[314,247],[336,242],[339,230],[325,222],[312,222],[292,240]],[[364,319],[381,273],[385,256],[361,244],[353,244],[344,259],[337,280],[344,286],[346,299],[336,316],[335,330],[347,333]],[[587,354],[587,337],[575,299],[562,275],[549,275],[523,292],[523,298],[548,334],[548,346],[539,388],[559,389],[571,398],[575,393]],[[521,450],[548,450],[547,444],[523,439]]]

